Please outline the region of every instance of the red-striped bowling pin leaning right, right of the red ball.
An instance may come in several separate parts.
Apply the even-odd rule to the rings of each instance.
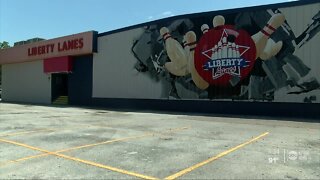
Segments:
[[[264,51],[269,37],[284,23],[284,21],[285,17],[283,14],[274,14],[260,32],[251,36],[256,45],[256,59],[260,57],[261,53]]]

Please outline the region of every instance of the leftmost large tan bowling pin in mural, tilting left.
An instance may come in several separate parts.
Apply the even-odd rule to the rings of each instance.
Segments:
[[[180,43],[173,39],[169,33],[169,29],[162,27],[160,29],[160,35],[165,41],[165,48],[171,62],[165,63],[166,69],[176,75],[184,76],[187,74],[187,55]]]

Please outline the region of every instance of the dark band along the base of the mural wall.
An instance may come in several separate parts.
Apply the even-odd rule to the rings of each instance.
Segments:
[[[319,103],[93,98],[92,105],[138,111],[291,117],[320,121]]]

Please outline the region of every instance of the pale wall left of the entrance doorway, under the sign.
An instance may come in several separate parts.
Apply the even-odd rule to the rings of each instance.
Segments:
[[[2,65],[4,101],[51,103],[50,75],[43,72],[43,61]]]

